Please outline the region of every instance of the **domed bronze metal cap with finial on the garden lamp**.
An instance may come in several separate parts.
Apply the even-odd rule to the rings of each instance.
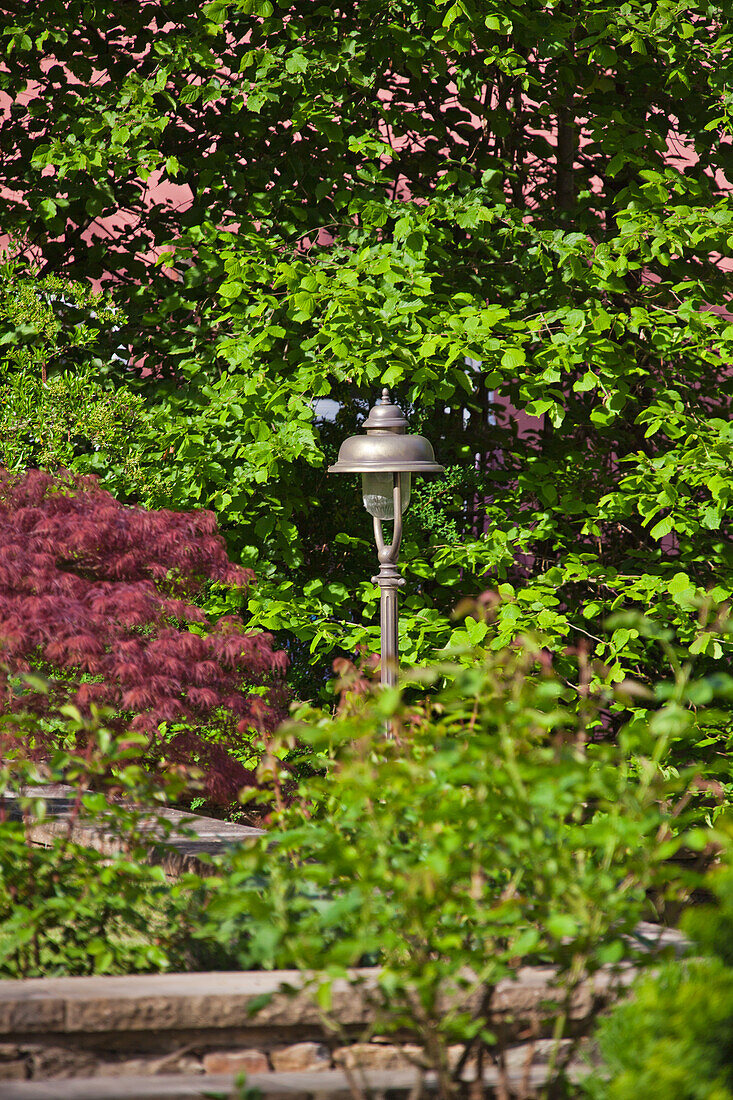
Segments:
[[[385,386],[376,405],[364,420],[365,436],[350,436],[341,443],[339,457],[329,474],[415,473],[441,474],[433,446],[425,436],[407,436],[407,420],[392,403]]]

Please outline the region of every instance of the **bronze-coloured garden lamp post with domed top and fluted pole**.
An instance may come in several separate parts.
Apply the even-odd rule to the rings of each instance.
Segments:
[[[380,571],[372,578],[380,586],[382,630],[382,683],[397,682],[397,592],[405,583],[397,570],[402,541],[402,514],[409,504],[413,474],[441,474],[433,447],[424,436],[407,436],[407,420],[393,405],[385,386],[364,420],[365,436],[350,436],[341,443],[329,474],[361,474],[366,512],[374,518],[374,537]],[[392,542],[387,546],[382,524],[392,520]]]

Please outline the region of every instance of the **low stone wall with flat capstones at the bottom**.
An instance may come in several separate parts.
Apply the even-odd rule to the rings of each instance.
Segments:
[[[411,1068],[414,1078],[423,1060],[414,1038],[371,1034],[379,1026],[376,976],[361,970],[355,983],[336,981],[328,1016],[297,971],[0,982],[0,1081],[333,1070],[348,1079],[362,1069],[396,1080]],[[586,982],[572,998],[571,1025],[582,1031],[628,977],[603,971]],[[546,1008],[561,996],[554,978],[549,968],[526,968],[494,991],[490,1018],[510,1044],[515,1072],[547,1058]],[[452,1048],[451,1060],[460,1054]]]

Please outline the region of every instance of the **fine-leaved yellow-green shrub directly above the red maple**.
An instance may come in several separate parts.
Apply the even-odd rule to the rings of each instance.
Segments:
[[[121,323],[81,283],[39,278],[18,260],[0,267],[0,465],[96,473],[125,499],[151,497],[143,398],[106,380],[125,353]]]

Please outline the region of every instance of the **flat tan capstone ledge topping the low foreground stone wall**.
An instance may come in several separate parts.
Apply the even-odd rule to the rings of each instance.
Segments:
[[[670,946],[678,953],[679,933],[644,924],[636,937],[645,952]],[[344,1027],[363,1026],[375,1019],[380,1003],[379,968],[351,971],[351,979],[332,982],[330,1015]],[[570,1003],[572,1020],[583,1020],[612,988],[632,980],[634,969],[604,967],[586,979]],[[545,1003],[557,1004],[562,990],[551,967],[523,967],[514,979],[496,985],[490,1015],[517,1027],[536,1018]],[[304,986],[298,970],[214,971],[195,974],[96,976],[89,978],[30,978],[0,981],[0,1042],[7,1036],[43,1034],[79,1036],[165,1032],[240,1033],[273,1027],[324,1030],[321,1009]],[[478,1004],[478,997],[475,1000]],[[449,998],[455,1003],[453,998]],[[470,996],[467,1008],[474,1007]],[[310,1036],[308,1036],[310,1037]]]

